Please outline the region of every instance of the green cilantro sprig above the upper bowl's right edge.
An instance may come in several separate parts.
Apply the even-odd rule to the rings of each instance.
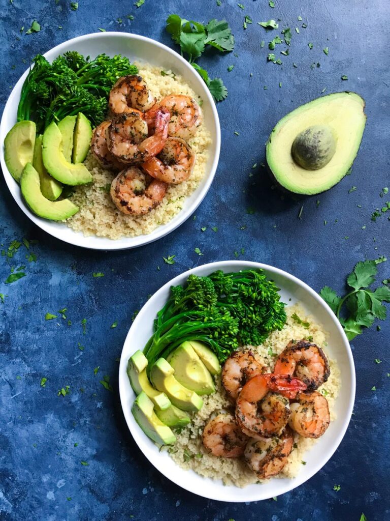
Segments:
[[[209,73],[195,63],[207,48],[214,47],[220,52],[230,52],[234,48],[235,40],[226,20],[213,18],[206,25],[170,15],[166,19],[166,30],[172,40],[180,46],[181,56],[187,55],[187,60],[199,73],[216,101],[226,98],[228,92],[221,78],[211,79]]]

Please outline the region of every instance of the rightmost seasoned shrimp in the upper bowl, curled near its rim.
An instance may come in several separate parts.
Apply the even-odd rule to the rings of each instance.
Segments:
[[[175,138],[188,141],[196,134],[198,127],[202,125],[202,110],[190,96],[169,94],[153,105],[145,114],[150,128],[153,127],[155,113],[159,109],[165,109],[171,114],[168,135]]]

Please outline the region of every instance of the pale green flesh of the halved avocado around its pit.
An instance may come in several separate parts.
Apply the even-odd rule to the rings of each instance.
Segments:
[[[266,144],[267,166],[281,187],[293,193],[313,195],[329,190],[341,181],[359,150],[366,126],[364,109],[365,101],[355,92],[336,92],[306,103],[284,116]],[[303,168],[293,157],[293,143],[314,126],[328,128],[334,136],[335,147],[322,168]],[[308,144],[312,148],[308,151],[309,157],[310,153],[321,155],[323,152],[321,142],[314,142],[313,148],[316,135],[316,132],[310,133]]]

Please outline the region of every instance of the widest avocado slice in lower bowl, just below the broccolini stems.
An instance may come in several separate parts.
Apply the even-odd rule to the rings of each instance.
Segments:
[[[214,382],[205,365],[192,349],[190,342],[183,342],[167,358],[175,370],[175,378],[184,387],[197,394],[213,394]]]

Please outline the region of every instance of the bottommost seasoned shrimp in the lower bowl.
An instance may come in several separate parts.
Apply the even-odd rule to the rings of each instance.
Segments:
[[[293,443],[294,437],[289,427],[278,438],[252,439],[245,448],[245,461],[257,477],[268,479],[281,472],[288,461]]]

